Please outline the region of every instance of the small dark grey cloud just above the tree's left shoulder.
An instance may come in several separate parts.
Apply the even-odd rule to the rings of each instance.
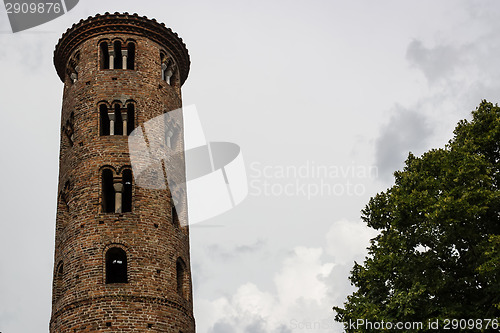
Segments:
[[[394,171],[403,166],[410,151],[426,147],[429,136],[434,132],[425,116],[416,111],[396,106],[389,122],[381,129],[375,142],[375,163],[379,176],[389,181]]]

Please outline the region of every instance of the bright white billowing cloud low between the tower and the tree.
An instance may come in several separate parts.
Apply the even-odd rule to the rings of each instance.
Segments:
[[[271,290],[247,282],[232,295],[198,300],[197,325],[209,327],[209,333],[341,332],[332,306],[352,292],[348,275],[353,260],[362,261],[373,236],[362,222],[333,223],[326,248],[297,246],[290,252]]]

